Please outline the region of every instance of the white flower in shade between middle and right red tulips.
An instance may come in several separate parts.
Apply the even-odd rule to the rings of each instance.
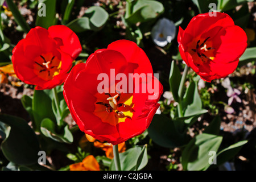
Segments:
[[[159,19],[152,28],[151,36],[157,46],[164,47],[175,38],[176,27],[174,22],[167,18]]]

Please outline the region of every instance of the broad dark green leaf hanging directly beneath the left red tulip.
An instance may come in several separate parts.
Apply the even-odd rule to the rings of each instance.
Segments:
[[[34,118],[35,131],[40,131],[41,122],[44,118],[55,121],[52,111],[52,90],[34,90],[32,100],[32,112]]]

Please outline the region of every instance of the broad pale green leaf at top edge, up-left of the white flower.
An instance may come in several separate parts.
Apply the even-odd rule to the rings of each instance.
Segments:
[[[125,21],[131,24],[148,22],[164,12],[162,3],[158,1],[138,0],[132,5],[131,14],[125,15]]]

